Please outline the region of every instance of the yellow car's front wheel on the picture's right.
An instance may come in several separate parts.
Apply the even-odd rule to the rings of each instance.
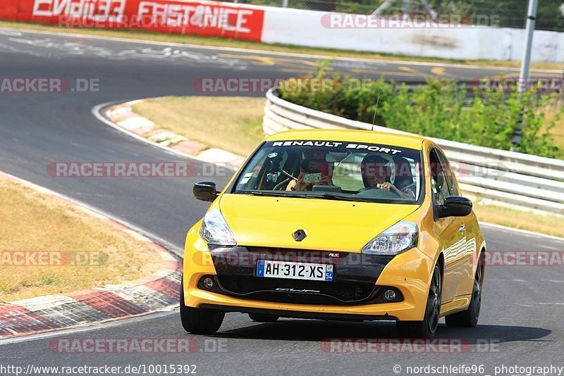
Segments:
[[[441,315],[441,296],[443,291],[441,267],[433,269],[431,287],[427,295],[427,307],[422,321],[398,321],[396,329],[403,338],[433,338]]]

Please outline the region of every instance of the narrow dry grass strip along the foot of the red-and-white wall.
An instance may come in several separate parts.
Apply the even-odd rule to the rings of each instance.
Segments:
[[[400,56],[391,54],[376,54],[374,52],[362,52],[339,49],[323,49],[314,47],[295,46],[291,44],[267,44],[260,42],[248,42],[236,39],[224,39],[214,37],[198,37],[195,35],[162,34],[157,32],[143,32],[137,30],[102,30],[102,29],[76,29],[57,27],[56,25],[41,25],[37,23],[14,23],[0,21],[0,27],[12,27],[25,30],[39,30],[51,32],[64,32],[82,35],[98,35],[102,37],[131,38],[154,42],[172,42],[180,44],[195,44],[200,46],[232,47],[238,49],[255,49],[260,51],[288,52],[291,54],[310,54],[319,56],[331,56],[342,58],[368,58],[374,60],[398,60],[398,61],[420,61],[424,63],[455,63],[462,65],[480,65],[497,68],[520,68],[519,61],[489,61],[489,60],[456,60],[444,58],[415,58],[412,56]],[[562,70],[561,63],[531,63],[531,68],[539,70]]]

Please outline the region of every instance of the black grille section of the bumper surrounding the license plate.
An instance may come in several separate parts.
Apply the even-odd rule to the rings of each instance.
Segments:
[[[391,256],[243,246],[209,249],[216,269],[216,275],[212,276],[216,282],[212,292],[276,303],[352,305],[385,302],[383,288],[376,286],[376,280],[391,261]],[[333,280],[259,278],[256,277],[259,260],[331,265]],[[398,298],[400,296],[398,291]]]

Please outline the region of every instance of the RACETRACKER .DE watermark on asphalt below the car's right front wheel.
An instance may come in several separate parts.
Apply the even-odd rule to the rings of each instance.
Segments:
[[[402,339],[328,338],[321,341],[326,353],[498,353],[499,339]]]

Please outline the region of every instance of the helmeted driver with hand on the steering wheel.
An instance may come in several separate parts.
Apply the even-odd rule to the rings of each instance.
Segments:
[[[364,190],[367,189],[383,189],[396,193],[400,198],[405,200],[414,200],[415,193],[410,187],[398,189],[391,182],[388,182],[391,168],[390,163],[385,158],[376,154],[365,156],[360,163],[360,171],[362,181],[364,182]]]

